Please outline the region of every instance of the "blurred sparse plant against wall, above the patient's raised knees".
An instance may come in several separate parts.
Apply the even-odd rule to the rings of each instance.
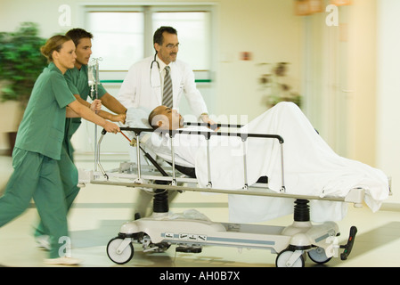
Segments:
[[[267,63],[262,63],[262,65]],[[261,75],[258,79],[263,91],[263,103],[271,108],[279,102],[294,102],[301,108],[302,97],[297,92],[291,90],[289,84],[285,83],[287,62],[278,62],[271,68],[269,73]]]

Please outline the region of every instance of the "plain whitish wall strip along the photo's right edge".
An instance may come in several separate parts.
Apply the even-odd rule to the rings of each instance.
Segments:
[[[377,11],[377,166],[392,176],[388,202],[400,203],[400,1],[380,0]]]

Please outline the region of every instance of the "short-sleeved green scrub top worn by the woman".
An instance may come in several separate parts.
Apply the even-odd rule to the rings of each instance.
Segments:
[[[37,77],[18,129],[15,147],[59,160],[66,106],[75,100],[61,70],[51,62]]]

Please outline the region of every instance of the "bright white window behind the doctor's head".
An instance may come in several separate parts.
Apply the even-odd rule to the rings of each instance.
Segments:
[[[211,8],[209,6],[85,6],[85,27],[94,35],[93,58],[102,70],[125,71],[154,54],[152,36],[160,26],[178,32],[178,59],[194,70],[211,67]]]

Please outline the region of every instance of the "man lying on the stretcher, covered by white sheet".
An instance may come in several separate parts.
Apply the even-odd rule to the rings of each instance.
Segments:
[[[162,130],[183,127],[183,118],[176,110],[159,106],[151,111],[149,123],[157,131],[152,134],[154,144],[169,147],[171,138]],[[189,126],[185,130],[213,132],[205,126]],[[290,194],[344,197],[354,188],[365,190],[365,202],[372,211],[380,208],[388,198],[388,176],[380,169],[362,162],[340,157],[317,134],[309,120],[291,102],[281,102],[272,109],[242,126],[239,133],[279,134],[284,139],[284,181],[286,192]],[[173,137],[174,153],[195,167],[201,187],[208,183],[208,161],[206,138],[204,135],[176,134]],[[247,178],[249,185],[259,177],[268,177],[268,187],[273,191],[282,188],[281,147],[277,140],[216,136],[209,139],[211,180],[216,189],[241,189],[244,185],[243,153],[247,157]],[[271,201],[274,200],[273,203]],[[279,201],[278,203],[276,201]],[[320,201],[321,211],[311,211],[314,221],[324,220],[323,216],[339,220],[346,215],[344,203]],[[265,221],[275,209],[285,212],[287,204],[282,199],[230,195],[230,215],[237,222]],[[331,205],[331,207],[329,207]],[[315,209],[316,207],[314,207]],[[292,211],[289,203],[287,214]],[[331,212],[331,215],[327,213]],[[247,218],[250,217],[251,218]],[[279,215],[282,216],[282,215]],[[314,216],[314,218],[313,218]],[[333,217],[332,217],[333,216]]]

